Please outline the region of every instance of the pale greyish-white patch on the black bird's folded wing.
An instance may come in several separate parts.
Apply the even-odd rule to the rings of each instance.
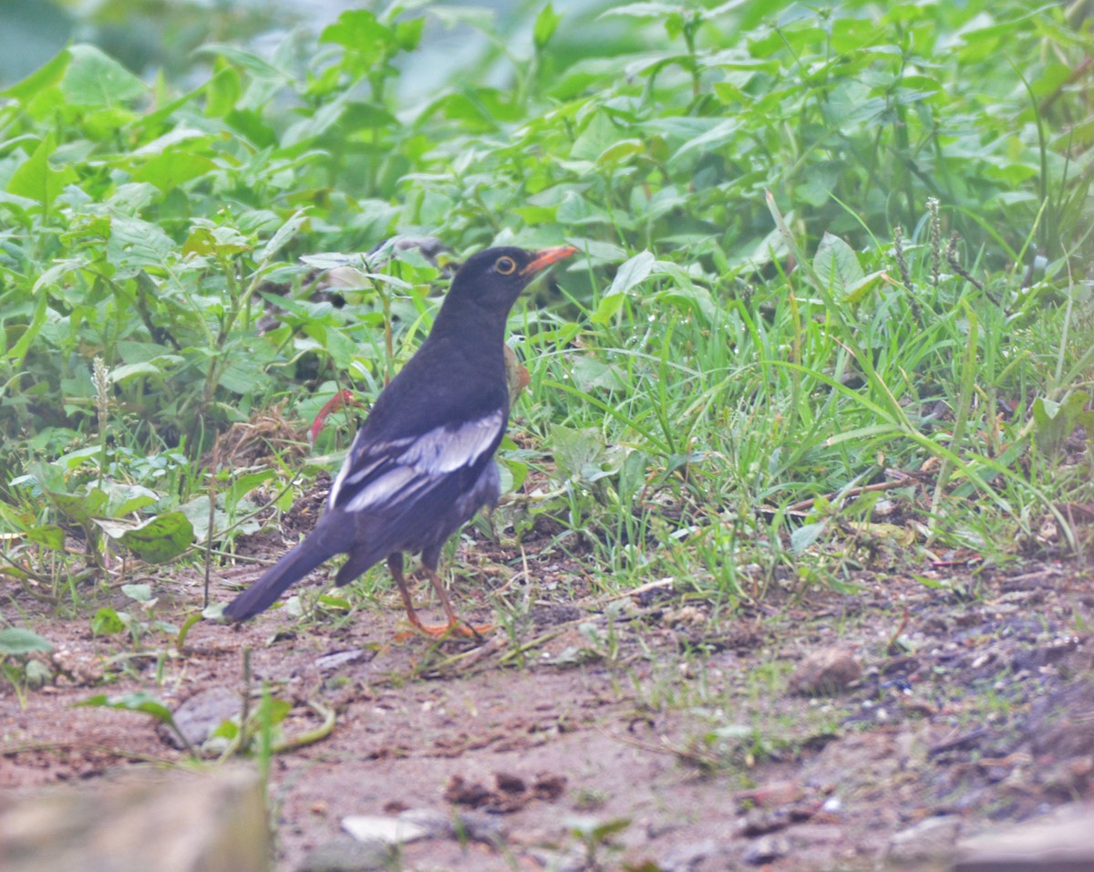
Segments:
[[[397,439],[370,445],[368,454],[357,461],[371,460],[371,463],[352,468],[354,458],[351,455],[338,472],[330,489],[330,504],[334,505],[342,487],[359,482],[364,484],[347,501],[346,511],[361,512],[400,502],[428,490],[439,478],[474,465],[489,451],[505,426],[504,418],[504,412],[498,410],[454,429],[435,427],[417,439]],[[386,464],[394,465],[373,477],[376,469]],[[372,480],[369,480],[370,477],[373,477]]]

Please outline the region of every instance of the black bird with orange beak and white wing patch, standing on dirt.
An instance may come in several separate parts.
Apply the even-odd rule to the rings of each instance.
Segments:
[[[410,624],[430,636],[478,636],[456,617],[437,574],[445,540],[501,493],[493,453],[509,419],[505,322],[533,277],[577,248],[488,248],[467,259],[433,329],[381,392],[335,478],[315,530],[224,609],[233,621],[269,608],[284,590],[336,554],[348,584],[387,558]],[[447,616],[421,623],[403,575],[404,551],[421,551]]]

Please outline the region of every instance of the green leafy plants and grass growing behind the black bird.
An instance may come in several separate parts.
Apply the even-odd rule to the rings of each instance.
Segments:
[[[81,608],[58,580],[105,579],[107,549],[205,559],[253,528],[254,488],[287,508],[314,465],[222,470],[210,511],[207,452],[276,403],[306,423],[340,388],[368,402],[414,352],[439,265],[358,258],[331,300],[300,260],[397,234],[581,249],[512,321],[531,385],[501,456],[551,496],[492,527],[517,546],[550,519],[604,590],[673,574],[732,605],[878,550],[1081,555],[1089,25],[1017,2],[657,10],[479,20],[492,75],[418,102],[441,8],[346,13],[270,57],[210,45],[185,86],[73,46],[3,92],[7,571]],[[860,490],[887,470],[899,487]],[[910,546],[885,550],[888,516]],[[153,519],[151,543],[129,530]]]

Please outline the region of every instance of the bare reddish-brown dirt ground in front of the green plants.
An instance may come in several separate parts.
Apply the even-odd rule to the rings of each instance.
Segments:
[[[475,572],[485,547],[465,540],[458,558]],[[292,704],[287,735],[336,717],[271,761],[283,870],[344,850],[347,816],[406,810],[462,832],[403,846],[404,869],[905,868],[940,833],[945,853],[958,835],[1091,798],[1094,571],[1074,560],[955,555],[859,573],[853,592],[776,583],[758,606],[718,608],[686,580],[597,594],[580,558],[525,554],[526,574],[517,560],[508,580],[454,585],[467,618],[499,623],[481,643],[397,639],[384,589],[349,618],[201,621],[175,653],[154,631],[93,637],[86,616],[0,582],[5,612],[55,646],[54,682],[25,708],[0,684],[0,789],[185,759],[150,718],[73,704],[144,689],[174,708],[226,688],[237,709],[249,648],[251,687]],[[224,571],[214,598],[257,571]],[[159,619],[201,602],[194,570],[151,581]]]

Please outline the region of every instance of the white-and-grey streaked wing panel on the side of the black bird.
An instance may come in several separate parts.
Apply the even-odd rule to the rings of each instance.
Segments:
[[[369,439],[350,449],[330,488],[328,505],[347,512],[385,512],[419,500],[450,475],[489,460],[505,429],[505,410],[441,425],[420,435]]]

